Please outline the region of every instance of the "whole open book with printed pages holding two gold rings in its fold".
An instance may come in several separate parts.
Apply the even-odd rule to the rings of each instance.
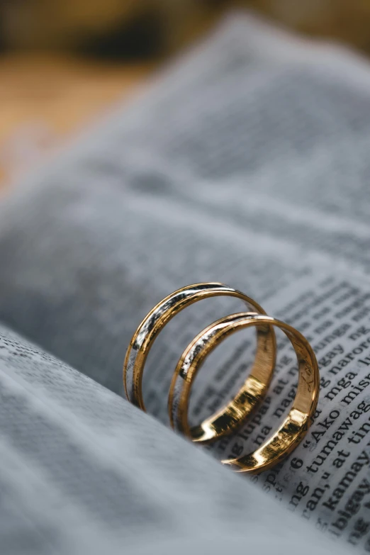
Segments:
[[[368,62],[237,14],[4,198],[2,553],[370,551],[369,152]],[[164,425],[182,349],[242,305],[174,318],[148,360],[149,414],[122,397],[136,326],[199,281],[245,291],[318,357],[313,425],[258,476],[215,459],[288,412],[281,336],[234,435],[196,447]],[[253,335],[235,337],[197,378],[194,422],[245,378]]]

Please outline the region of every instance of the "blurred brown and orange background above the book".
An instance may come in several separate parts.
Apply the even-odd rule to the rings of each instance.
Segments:
[[[240,8],[370,53],[370,0],[0,0],[0,190]]]

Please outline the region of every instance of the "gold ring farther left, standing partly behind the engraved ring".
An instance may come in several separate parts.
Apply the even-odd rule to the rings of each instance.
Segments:
[[[150,313],[142,320],[138,329],[135,331],[132,340],[128,346],[125,356],[125,363],[123,365],[123,383],[125,386],[125,393],[128,400],[137,405],[142,410],[145,410],[144,400],[142,398],[142,375],[144,371],[145,361],[150,352],[152,344],[163,329],[163,327],[172,320],[176,314],[187,306],[200,301],[203,298],[213,296],[232,296],[240,298],[244,301],[249,308],[252,308],[253,313],[265,314],[261,306],[259,306],[252,298],[247,297],[241,291],[220,284],[217,282],[194,284],[183,287],[174,291],[171,295],[167,296]],[[217,427],[211,428],[206,425],[204,429],[196,426],[194,429],[189,429],[189,436],[193,437],[197,442],[210,441],[216,439],[220,435],[235,430],[235,427],[241,423],[242,420],[254,408],[254,405],[261,400],[269,387],[271,377],[274,371],[276,361],[276,339],[275,332],[272,326],[258,325],[257,324],[257,353],[252,367],[252,374],[258,374],[259,383],[256,383],[254,395],[251,396],[245,408],[232,412],[228,405],[224,411],[220,411],[216,415],[218,422]],[[248,379],[249,380],[249,379]],[[247,380],[248,384],[250,383]],[[250,387],[245,391],[245,384],[242,386],[237,398],[240,403],[244,400],[246,393],[250,394]],[[208,419],[211,421],[212,419]]]

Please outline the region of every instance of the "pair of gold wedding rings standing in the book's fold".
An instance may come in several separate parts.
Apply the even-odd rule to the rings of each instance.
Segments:
[[[298,361],[298,388],[293,405],[279,429],[259,449],[237,459],[221,461],[241,472],[267,470],[301,442],[310,426],[318,403],[318,362],[313,349],[300,332],[291,325],[268,316],[259,304],[244,293],[220,283],[194,284],[174,291],[158,303],[142,320],[128,346],[123,366],[125,393],[131,403],[145,410],[142,375],[155,338],[181,310],[203,298],[213,296],[240,298],[247,305],[248,311],[217,320],[186,347],[176,365],[169,389],[169,420],[174,430],[198,443],[211,442],[236,430],[267,393],[276,362],[274,326],[279,327],[291,341]],[[257,330],[257,351],[250,375],[228,405],[200,425],[190,427],[189,398],[198,370],[220,342],[250,326]]]

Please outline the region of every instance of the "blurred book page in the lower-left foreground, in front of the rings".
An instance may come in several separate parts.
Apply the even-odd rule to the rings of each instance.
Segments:
[[[4,554],[331,552],[252,484],[3,326],[0,395]]]

